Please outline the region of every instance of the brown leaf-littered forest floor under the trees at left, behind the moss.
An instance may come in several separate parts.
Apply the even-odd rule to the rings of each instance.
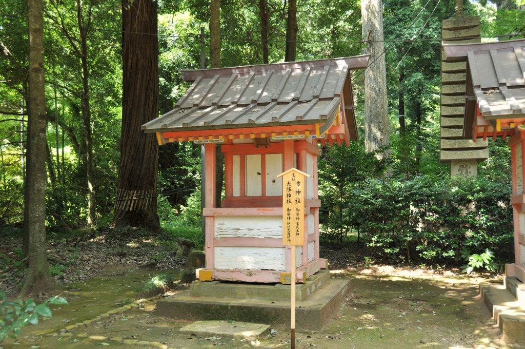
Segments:
[[[49,265],[59,285],[92,278],[108,267],[181,270],[186,262],[185,258],[175,255],[175,242],[165,233],[103,229],[80,238],[80,234],[68,238],[48,234]],[[20,257],[22,231],[4,235],[2,242],[0,290],[13,294],[20,288],[25,276],[24,262]]]

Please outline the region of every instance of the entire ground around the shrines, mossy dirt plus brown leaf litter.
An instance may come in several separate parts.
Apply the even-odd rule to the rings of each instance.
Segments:
[[[19,260],[18,236],[6,237],[0,247],[3,269]],[[161,271],[180,278],[184,259],[175,256],[170,239],[135,230],[119,235],[102,231],[76,246],[75,242],[51,234],[48,251],[68,264],[60,268],[55,279],[69,305],[54,306],[50,319],[24,327],[16,342],[8,340],[3,347],[132,347],[130,343],[169,348],[290,346],[285,327],[244,341],[180,334],[178,329],[188,322],[156,316],[155,299],[125,313],[111,313],[133,302],[141,286]],[[322,247],[321,257],[329,259],[332,277],[352,279],[352,291],[324,329],[297,329],[297,348],[520,347],[500,341],[499,330],[478,295],[479,283],[501,282],[500,277],[468,277],[457,270],[379,264],[364,258],[363,250],[357,244],[344,249]],[[0,289],[14,291],[23,280],[21,270],[4,272]],[[179,284],[169,294],[187,288],[188,284]],[[67,326],[90,319],[95,321],[65,331]],[[122,343],[124,340],[127,342]]]

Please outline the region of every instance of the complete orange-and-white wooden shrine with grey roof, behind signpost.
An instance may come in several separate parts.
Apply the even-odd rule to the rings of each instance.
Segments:
[[[288,283],[291,247],[282,244],[282,178],[293,167],[306,181],[304,241],[297,281],[327,268],[319,258],[317,157],[322,145],[358,137],[350,71],[369,56],[233,68],[183,70],[194,81],[175,109],[142,128],[160,145],[205,147],[206,267],[201,281]],[[222,145],[225,199],[215,207],[215,151]]]

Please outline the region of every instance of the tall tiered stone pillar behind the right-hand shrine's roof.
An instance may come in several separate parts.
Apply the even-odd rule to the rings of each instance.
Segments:
[[[458,16],[443,20],[443,44],[479,43],[479,17]],[[477,176],[477,162],[488,158],[488,141],[463,137],[467,61],[441,63],[441,151],[439,160],[450,162],[451,176]]]

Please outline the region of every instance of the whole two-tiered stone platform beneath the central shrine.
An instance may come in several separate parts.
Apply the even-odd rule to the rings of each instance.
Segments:
[[[348,279],[330,279],[328,270],[297,284],[297,329],[319,330],[327,324],[350,291],[350,284]],[[157,314],[192,321],[235,320],[289,326],[290,287],[195,281],[190,291],[159,300]]]

